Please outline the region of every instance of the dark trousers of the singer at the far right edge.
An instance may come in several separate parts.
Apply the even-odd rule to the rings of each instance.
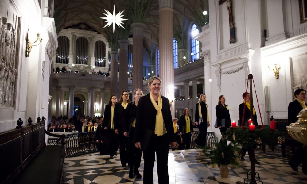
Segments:
[[[297,150],[294,152],[293,156],[291,157],[289,161],[289,165],[291,167],[297,168],[298,165],[302,162],[303,166],[303,173],[307,174],[307,150],[306,148],[297,148]]]

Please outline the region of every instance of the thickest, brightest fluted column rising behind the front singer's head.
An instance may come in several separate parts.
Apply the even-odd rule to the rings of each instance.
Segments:
[[[173,63],[173,0],[159,0],[159,71],[162,80],[161,94],[170,101],[174,99]],[[174,117],[175,102],[171,106]]]

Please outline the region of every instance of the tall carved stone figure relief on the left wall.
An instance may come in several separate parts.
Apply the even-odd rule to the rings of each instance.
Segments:
[[[13,108],[16,100],[21,17],[11,1],[0,1],[0,108]]]

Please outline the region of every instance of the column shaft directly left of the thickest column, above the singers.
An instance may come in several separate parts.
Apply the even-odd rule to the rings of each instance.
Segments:
[[[132,23],[133,48],[132,48],[132,90],[143,90],[143,29],[145,24]]]

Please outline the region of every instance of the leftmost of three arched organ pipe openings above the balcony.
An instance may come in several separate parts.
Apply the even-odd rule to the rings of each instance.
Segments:
[[[69,56],[69,39],[66,36],[58,37],[59,47],[56,49],[56,63],[67,64]]]

